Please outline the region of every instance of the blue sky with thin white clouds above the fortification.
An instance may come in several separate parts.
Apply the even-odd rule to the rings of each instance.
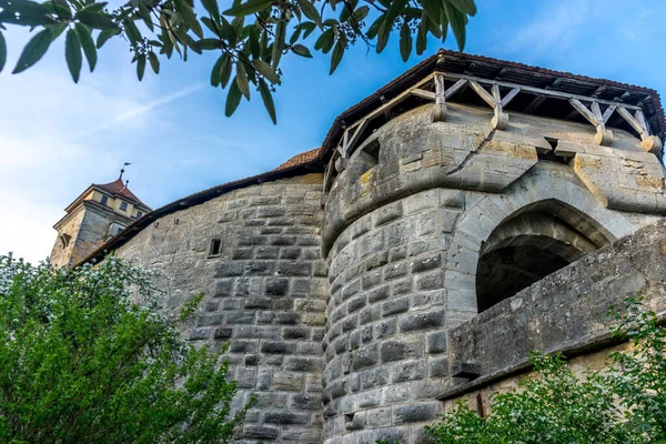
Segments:
[[[231,0],[222,0],[229,1]],[[465,51],[650,87],[666,93],[663,18],[648,0],[477,0]],[[382,54],[363,44],[329,77],[329,57],[284,59],[273,125],[258,93],[224,117],[224,93],[209,85],[214,59],[162,61],[138,82],[121,42],[100,52],[94,73],[73,84],[63,39],[36,67],[10,71],[29,34],[6,33],[0,73],[0,253],[39,261],[56,240],[63,209],[90,183],[114,180],[123,162],[130,189],[152,208],[273,169],[316,148],[333,119],[403,71],[397,38]],[[311,40],[314,40],[311,38]],[[313,41],[310,41],[313,44]],[[454,49],[451,36],[444,44]],[[87,68],[84,67],[84,70]]]

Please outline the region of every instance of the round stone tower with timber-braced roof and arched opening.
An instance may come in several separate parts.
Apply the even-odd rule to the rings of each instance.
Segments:
[[[660,140],[629,132],[639,110],[495,78],[411,81],[356,113],[325,173],[326,443],[421,442],[437,395],[486,372],[451,353],[452,329],[666,212]],[[555,119],[564,108],[582,119]]]

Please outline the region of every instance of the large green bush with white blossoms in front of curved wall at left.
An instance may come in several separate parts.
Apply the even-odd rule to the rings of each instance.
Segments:
[[[0,256],[0,442],[228,442],[246,407],[220,353],[155,310],[117,258],[53,270]],[[221,363],[219,363],[221,361]]]

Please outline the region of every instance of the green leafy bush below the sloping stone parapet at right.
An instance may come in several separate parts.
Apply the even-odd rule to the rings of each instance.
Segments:
[[[603,372],[574,376],[561,354],[534,353],[533,377],[496,394],[481,417],[463,402],[426,427],[448,443],[653,443],[666,438],[666,330],[638,299],[614,312],[614,334],[629,342]],[[659,441],[662,442],[662,441]]]

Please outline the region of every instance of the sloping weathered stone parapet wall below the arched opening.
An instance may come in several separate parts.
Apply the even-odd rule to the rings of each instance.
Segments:
[[[444,407],[457,398],[485,407],[493,393],[517,384],[533,350],[577,356],[576,373],[601,369],[614,345],[608,309],[622,309],[627,296],[643,295],[646,307],[666,313],[666,219],[623,238],[521,291],[453,329],[448,356],[473,367],[480,377],[444,392]],[[620,345],[622,347],[622,345]],[[492,405],[491,405],[492,406]]]

